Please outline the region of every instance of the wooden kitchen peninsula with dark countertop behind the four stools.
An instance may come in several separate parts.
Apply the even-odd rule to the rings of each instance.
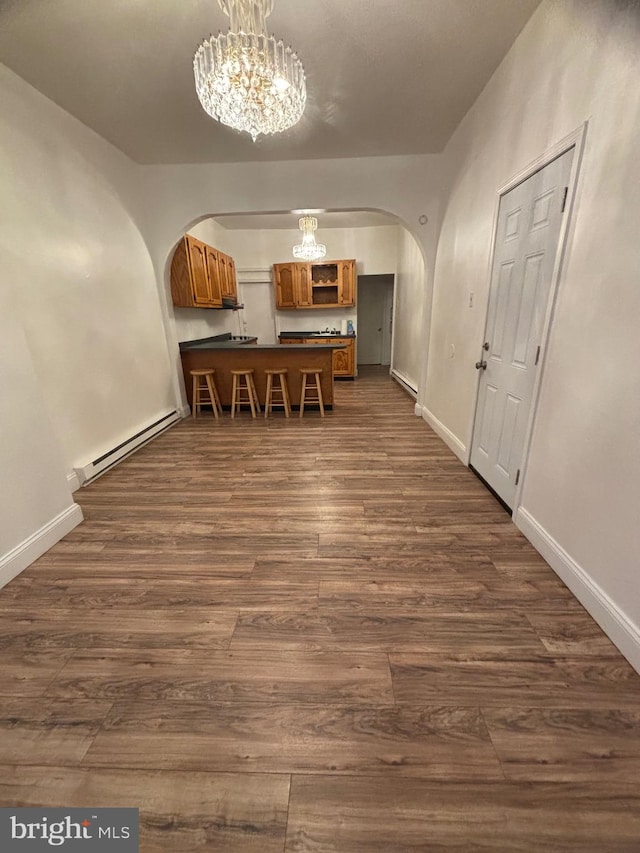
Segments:
[[[184,373],[185,389],[191,405],[191,379],[189,371],[212,367],[223,407],[231,406],[231,371],[253,368],[258,399],[262,404],[266,391],[264,371],[268,368],[286,367],[289,371],[289,393],[296,408],[300,400],[300,369],[322,370],[321,386],[325,408],[333,408],[333,352],[343,349],[344,343],[330,341],[322,344],[258,344],[256,338],[216,335],[180,344],[180,359]]]

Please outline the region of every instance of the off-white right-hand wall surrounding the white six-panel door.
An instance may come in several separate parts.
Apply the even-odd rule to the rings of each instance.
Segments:
[[[498,189],[588,122],[516,521],[638,669],[639,57],[638,3],[545,0],[457,129],[426,385],[468,449]]]

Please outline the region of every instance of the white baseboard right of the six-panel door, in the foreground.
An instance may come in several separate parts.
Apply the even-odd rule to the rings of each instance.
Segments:
[[[578,565],[526,509],[514,515],[516,527],[566,583],[631,666],[640,673],[640,629],[607,593]]]

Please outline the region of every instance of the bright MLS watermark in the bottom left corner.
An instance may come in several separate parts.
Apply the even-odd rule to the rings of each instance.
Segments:
[[[0,809],[2,853],[139,853],[138,809]]]

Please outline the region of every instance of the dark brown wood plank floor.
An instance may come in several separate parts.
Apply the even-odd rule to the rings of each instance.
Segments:
[[[141,850],[638,853],[640,677],[384,371],[182,422],[0,591],[0,805]]]

